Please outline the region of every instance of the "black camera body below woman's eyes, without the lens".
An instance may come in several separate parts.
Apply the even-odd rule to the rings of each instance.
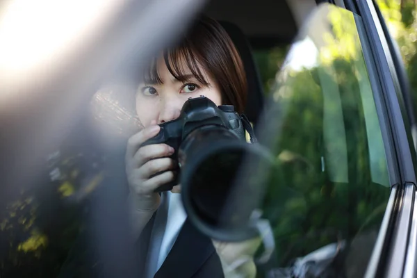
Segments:
[[[213,101],[204,96],[188,99],[176,120],[164,122],[159,126],[161,126],[159,133],[154,138],[144,142],[142,146],[161,143],[170,145],[175,150],[171,156],[174,161],[178,161],[181,144],[190,133],[206,126],[213,126],[215,129],[226,129],[226,132],[236,136],[238,140],[245,140],[246,138],[242,120],[234,110],[234,106],[216,106]],[[180,164],[179,167],[181,168],[181,166]],[[177,184],[178,179],[161,186],[157,191],[171,190]]]

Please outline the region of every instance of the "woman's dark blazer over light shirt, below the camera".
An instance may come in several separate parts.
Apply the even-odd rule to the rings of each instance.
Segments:
[[[153,223],[154,216],[143,229],[137,242],[140,273],[145,271]],[[172,250],[154,277],[217,278],[224,277],[224,274],[211,239],[197,231],[186,219]]]

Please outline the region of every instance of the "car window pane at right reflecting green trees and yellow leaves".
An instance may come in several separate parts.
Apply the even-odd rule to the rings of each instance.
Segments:
[[[260,140],[278,166],[262,203],[268,277],[364,275],[390,194],[361,18],[322,5],[291,46]],[[292,277],[292,276],[291,276]]]

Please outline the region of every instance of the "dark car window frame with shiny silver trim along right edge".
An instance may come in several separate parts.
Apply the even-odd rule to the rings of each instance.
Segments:
[[[371,46],[373,60],[377,65],[376,74],[382,88],[384,114],[389,118],[389,129],[393,135],[393,154],[398,163],[399,183],[393,190],[395,201],[388,206],[386,215],[391,224],[382,225],[379,231],[379,245],[374,247],[373,260],[368,265],[366,277],[414,277],[416,267],[414,260],[416,243],[410,239],[410,233],[417,236],[416,220],[412,216],[417,213],[416,206],[416,152],[412,152],[414,140],[404,105],[401,79],[395,70],[393,48],[389,46],[386,30],[382,27],[381,18],[377,14],[375,1],[346,0],[346,6],[361,16],[366,35]],[[412,123],[412,122],[411,122]],[[416,212],[414,212],[416,210]],[[381,238],[384,238],[382,240]]]

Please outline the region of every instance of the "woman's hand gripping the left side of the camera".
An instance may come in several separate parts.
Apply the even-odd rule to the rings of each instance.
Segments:
[[[147,145],[143,142],[158,134],[160,126],[152,122],[131,138],[126,147],[126,174],[129,181],[131,198],[138,210],[155,210],[160,196],[155,192],[159,186],[172,181],[175,177],[174,161],[169,158],[174,149],[166,144]],[[163,172],[152,177],[158,172]]]

